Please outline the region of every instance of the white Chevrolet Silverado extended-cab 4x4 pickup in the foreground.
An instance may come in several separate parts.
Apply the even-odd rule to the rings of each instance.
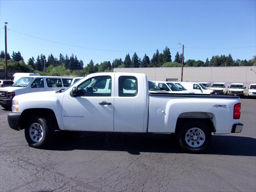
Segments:
[[[8,123],[25,129],[28,144],[44,148],[55,130],[175,133],[182,149],[204,151],[211,133],[241,132],[240,98],[149,94],[145,74],[96,73],[54,92],[15,96]]]

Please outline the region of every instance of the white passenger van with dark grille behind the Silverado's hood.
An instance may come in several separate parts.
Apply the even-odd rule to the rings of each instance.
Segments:
[[[58,76],[21,77],[12,86],[0,88],[0,104],[3,108],[11,108],[12,98],[16,95],[65,89],[70,86],[72,79]]]

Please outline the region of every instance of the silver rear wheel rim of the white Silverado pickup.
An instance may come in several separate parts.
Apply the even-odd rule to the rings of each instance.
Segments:
[[[192,148],[200,147],[205,142],[205,134],[200,128],[190,128],[185,135],[185,141]]]

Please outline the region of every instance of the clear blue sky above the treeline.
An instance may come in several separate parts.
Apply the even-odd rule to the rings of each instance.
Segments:
[[[249,60],[256,55],[256,1],[0,1],[0,50],[8,22],[8,52],[25,62],[39,54],[72,53],[94,63],[124,60],[136,51],[150,59],[168,46],[172,59],[205,61],[213,55]],[[81,46],[66,46],[32,38]],[[248,47],[250,48],[238,48]],[[100,50],[92,50],[94,48]],[[222,49],[215,49],[222,48]],[[114,50],[114,51],[104,51]]]

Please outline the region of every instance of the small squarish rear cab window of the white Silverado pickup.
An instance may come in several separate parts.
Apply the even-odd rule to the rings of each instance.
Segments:
[[[134,97],[138,94],[138,80],[134,76],[120,76],[118,78],[118,96]]]

